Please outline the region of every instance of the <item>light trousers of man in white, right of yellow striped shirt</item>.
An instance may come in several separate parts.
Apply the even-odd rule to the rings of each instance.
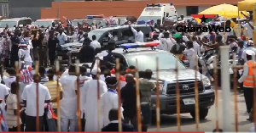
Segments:
[[[78,130],[78,120],[61,118],[61,131],[77,131]]]

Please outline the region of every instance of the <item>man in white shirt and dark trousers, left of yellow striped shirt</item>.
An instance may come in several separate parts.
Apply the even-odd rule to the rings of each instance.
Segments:
[[[40,75],[34,75],[33,79],[34,82],[27,85],[21,95],[26,106],[26,131],[37,131],[37,89],[39,130],[42,130],[43,125],[44,103],[50,103],[51,98],[48,88],[39,83]]]

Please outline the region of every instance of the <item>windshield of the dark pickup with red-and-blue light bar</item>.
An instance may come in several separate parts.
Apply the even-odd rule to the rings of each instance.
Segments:
[[[143,54],[131,54],[126,55],[125,58],[128,61],[128,64],[136,66],[136,59],[138,64],[138,70],[156,70],[156,58],[159,58],[159,69],[168,70],[176,69],[176,63],[178,69],[186,69],[183,64],[177,61],[171,53],[143,53]]]

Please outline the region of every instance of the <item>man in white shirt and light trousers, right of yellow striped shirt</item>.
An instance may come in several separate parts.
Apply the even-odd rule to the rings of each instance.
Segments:
[[[77,131],[77,76],[72,64],[68,75],[62,75],[60,82],[63,90],[61,99],[61,131]],[[82,95],[81,95],[82,96]]]

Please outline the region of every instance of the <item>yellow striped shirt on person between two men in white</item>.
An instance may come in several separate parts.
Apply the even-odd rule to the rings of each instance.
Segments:
[[[49,80],[48,82],[44,83],[49,90],[49,95],[52,99],[57,97],[57,81],[56,80]],[[59,82],[59,89],[62,91],[61,83]],[[57,103],[53,103],[53,108],[57,108]]]

